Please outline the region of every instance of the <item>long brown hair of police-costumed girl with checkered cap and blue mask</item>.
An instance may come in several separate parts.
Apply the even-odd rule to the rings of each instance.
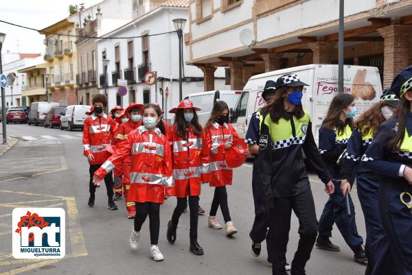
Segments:
[[[277,90],[273,97],[269,99],[268,103],[266,106],[262,108],[262,113],[269,112],[269,115],[271,115],[271,121],[274,123],[278,123],[279,119],[281,119],[284,116],[285,113],[285,108],[283,104],[283,95],[288,91],[288,87],[282,87]],[[302,104],[296,105],[295,109],[292,112],[292,115],[300,119],[305,115],[304,108],[302,107]]]

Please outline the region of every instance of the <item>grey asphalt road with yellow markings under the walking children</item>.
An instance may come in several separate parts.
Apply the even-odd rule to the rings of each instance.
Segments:
[[[205,255],[194,256],[189,248],[189,215],[183,214],[177,241],[165,238],[166,225],[176,204],[169,198],[161,206],[159,248],[165,261],[148,257],[150,238],[148,221],[141,231],[140,248],[130,250],[128,237],[133,221],[126,218],[124,200],[117,201],[118,211],[106,208],[105,187],[98,189],[95,208],[87,207],[89,165],[82,156],[81,131],[68,132],[41,126],[8,125],[8,133],[25,136],[12,150],[0,157],[0,275],[2,274],[271,274],[266,265],[266,246],[259,258],[251,255],[249,230],[253,223],[251,163],[234,171],[233,186],[228,187],[229,209],[238,234],[227,238],[224,230],[207,228],[207,215],[199,217],[198,242]],[[27,137],[29,137],[27,139]],[[312,191],[320,216],[328,199],[317,176]],[[210,208],[213,189],[203,186],[201,206]],[[365,237],[365,223],[356,188],[352,191],[356,222]],[[66,257],[61,260],[17,260],[11,255],[11,213],[14,207],[62,207],[67,213]],[[223,224],[218,211],[218,220]],[[298,223],[293,216],[287,259],[290,263],[297,248]],[[307,274],[363,275],[365,265],[355,263],[350,248],[334,227],[332,241],[341,252],[314,248]]]

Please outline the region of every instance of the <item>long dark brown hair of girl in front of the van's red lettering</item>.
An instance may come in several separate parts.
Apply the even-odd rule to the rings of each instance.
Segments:
[[[354,130],[354,119],[346,119],[345,122],[341,121],[341,113],[343,109],[350,106],[354,100],[354,96],[348,93],[339,93],[335,95],[330,103],[328,115],[326,115],[322,125],[325,126],[327,130],[336,128],[337,134],[343,134],[346,125],[350,125],[350,128]]]

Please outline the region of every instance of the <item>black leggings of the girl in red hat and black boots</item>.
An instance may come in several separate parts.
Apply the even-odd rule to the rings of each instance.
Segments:
[[[187,197],[176,198],[177,205],[174,208],[172,215],[172,224],[177,226],[179,223],[179,217],[182,215],[187,207]],[[190,236],[197,236],[197,225],[198,225],[198,209],[199,209],[199,196],[189,196],[189,209],[190,209]]]

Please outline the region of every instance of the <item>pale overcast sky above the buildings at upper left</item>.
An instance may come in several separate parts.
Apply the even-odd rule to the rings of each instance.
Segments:
[[[102,0],[1,0],[0,20],[34,29],[43,29],[69,16],[69,5],[84,3],[84,8]],[[5,33],[1,53],[44,53],[44,36],[38,32],[0,23]]]

